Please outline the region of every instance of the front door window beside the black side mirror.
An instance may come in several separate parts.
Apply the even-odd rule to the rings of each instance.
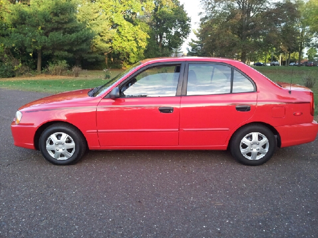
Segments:
[[[130,79],[120,88],[120,95],[129,97],[175,96],[180,75],[180,65],[149,68]]]

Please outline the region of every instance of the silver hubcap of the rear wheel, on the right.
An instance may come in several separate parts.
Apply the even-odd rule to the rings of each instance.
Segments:
[[[252,132],[240,141],[240,153],[248,160],[259,160],[263,158],[269,148],[269,142],[265,135]]]

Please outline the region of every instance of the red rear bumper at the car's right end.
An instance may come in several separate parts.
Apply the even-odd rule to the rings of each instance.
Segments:
[[[315,120],[312,123],[277,126],[275,128],[281,138],[281,147],[312,142],[318,133],[318,123]]]

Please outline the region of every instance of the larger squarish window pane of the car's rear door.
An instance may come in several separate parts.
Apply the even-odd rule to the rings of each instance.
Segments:
[[[221,64],[189,64],[187,95],[231,92],[231,67]]]

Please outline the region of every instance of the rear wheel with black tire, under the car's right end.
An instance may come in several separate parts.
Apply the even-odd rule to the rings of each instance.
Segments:
[[[230,142],[232,156],[240,163],[250,166],[266,163],[273,156],[276,147],[277,141],[273,132],[261,124],[250,124],[240,128]]]

